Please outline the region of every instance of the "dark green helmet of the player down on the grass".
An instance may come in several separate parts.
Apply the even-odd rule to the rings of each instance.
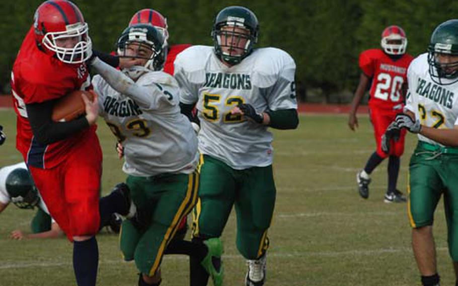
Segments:
[[[11,201],[19,208],[34,208],[40,201],[38,191],[28,170],[13,170],[6,180],[6,188]]]

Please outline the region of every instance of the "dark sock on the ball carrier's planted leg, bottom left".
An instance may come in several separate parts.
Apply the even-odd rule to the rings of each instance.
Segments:
[[[95,286],[99,248],[95,237],[85,241],[73,242],[73,270],[78,286]]]

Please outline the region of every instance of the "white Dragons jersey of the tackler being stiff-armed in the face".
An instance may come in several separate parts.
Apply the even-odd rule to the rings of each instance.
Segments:
[[[180,89],[172,76],[146,72],[129,96],[114,90],[100,75],[92,84],[99,95],[100,115],[124,147],[126,174],[147,177],[194,171],[199,159],[197,137],[180,112]]]

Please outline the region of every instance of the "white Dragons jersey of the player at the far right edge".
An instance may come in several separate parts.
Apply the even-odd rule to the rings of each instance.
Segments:
[[[407,70],[409,92],[405,109],[415,113],[422,125],[434,128],[453,128],[458,125],[458,83],[441,79],[444,84],[432,81],[429,75],[428,53],[416,57]],[[441,145],[421,134],[418,139],[429,144]]]

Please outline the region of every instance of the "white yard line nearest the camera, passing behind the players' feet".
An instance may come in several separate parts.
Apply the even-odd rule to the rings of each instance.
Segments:
[[[437,251],[448,251],[446,247],[438,247]],[[412,249],[410,247],[404,248],[379,248],[372,250],[347,250],[347,251],[319,251],[319,252],[289,252],[289,253],[269,253],[269,258],[304,258],[304,257],[338,257],[338,256],[364,256],[364,255],[373,255],[373,254],[384,254],[384,253],[400,253],[408,252],[411,253]],[[243,259],[240,254],[226,254],[222,256],[223,259]],[[165,260],[187,260],[188,257],[185,255],[166,255],[164,256]],[[116,263],[126,263],[122,259],[116,260],[100,260],[100,264],[116,264]],[[130,263],[130,262],[127,262]],[[0,264],[1,269],[22,269],[30,267],[59,267],[59,266],[70,266],[70,262],[31,262],[24,261],[23,263],[2,263]]]

